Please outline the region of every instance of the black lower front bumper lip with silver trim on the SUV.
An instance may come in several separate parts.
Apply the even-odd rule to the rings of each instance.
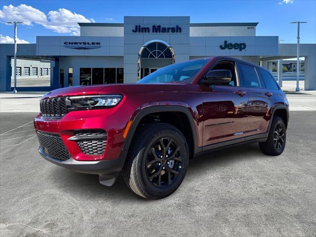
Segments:
[[[121,171],[127,153],[126,151],[122,151],[118,158],[111,160],[79,161],[74,158],[69,158],[67,160],[61,161],[47,156],[41,149],[39,149],[39,152],[40,155],[49,162],[52,162],[64,168],[71,169],[79,173],[99,175],[111,175]]]

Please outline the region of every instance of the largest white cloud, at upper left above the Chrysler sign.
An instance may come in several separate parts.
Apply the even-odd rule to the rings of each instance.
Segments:
[[[65,8],[59,8],[57,11],[49,11],[46,15],[39,9],[25,4],[3,6],[2,10],[0,10],[0,19],[4,22],[22,21],[28,26],[37,23],[54,32],[70,33],[75,36],[80,34],[78,22],[95,22],[93,19],[87,19],[83,15],[71,12]]]

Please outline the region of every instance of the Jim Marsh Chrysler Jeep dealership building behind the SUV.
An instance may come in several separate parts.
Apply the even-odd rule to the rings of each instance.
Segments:
[[[80,36],[37,36],[34,44],[18,44],[18,58],[27,60],[24,66],[17,63],[18,90],[135,83],[161,67],[202,57],[233,56],[271,71],[273,62],[278,60],[282,68],[283,59],[296,57],[296,44],[279,44],[278,36],[257,36],[258,23],[125,16],[124,23],[78,24]],[[301,44],[300,52],[305,57],[305,89],[315,90],[316,44]],[[0,91],[12,90],[12,56],[13,44],[0,44]],[[40,72],[49,79],[43,82]]]

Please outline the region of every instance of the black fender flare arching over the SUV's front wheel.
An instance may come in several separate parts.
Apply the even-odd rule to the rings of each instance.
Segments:
[[[151,106],[151,107],[144,108],[140,112],[138,112],[136,117],[132,121],[130,129],[128,130],[122,151],[128,151],[130,144],[132,142],[132,138],[135,134],[136,128],[140,120],[144,118],[146,115],[149,115],[152,113],[159,113],[159,112],[182,112],[187,116],[190,122],[191,131],[193,134],[193,143],[194,143],[193,155],[197,154],[201,150],[201,148],[197,147],[197,132],[195,130],[194,119],[188,108],[184,106],[179,106],[179,105]]]

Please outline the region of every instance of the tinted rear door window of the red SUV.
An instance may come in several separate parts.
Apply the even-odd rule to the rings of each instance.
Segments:
[[[260,83],[255,68],[247,64],[239,63],[241,86],[259,87]]]

